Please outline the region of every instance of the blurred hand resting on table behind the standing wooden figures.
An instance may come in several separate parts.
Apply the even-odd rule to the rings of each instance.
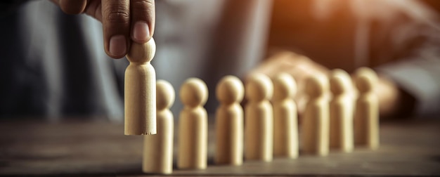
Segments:
[[[328,75],[330,70],[306,58],[304,55],[284,51],[268,58],[248,75],[261,73],[273,78],[281,72],[291,74],[295,81],[297,81],[298,88],[294,99],[297,103],[299,117],[301,117],[306,106],[306,94],[304,91],[306,79],[316,73]],[[381,74],[379,74],[379,82],[377,83],[375,93],[379,99],[381,118],[405,117],[413,111],[415,98],[399,89],[399,86],[392,80]]]

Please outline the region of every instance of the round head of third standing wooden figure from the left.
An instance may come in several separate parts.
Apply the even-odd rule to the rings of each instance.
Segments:
[[[216,87],[217,99],[224,104],[240,103],[245,95],[245,89],[238,77],[223,77]]]

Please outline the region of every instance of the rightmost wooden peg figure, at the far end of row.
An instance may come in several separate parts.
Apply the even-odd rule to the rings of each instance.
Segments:
[[[379,102],[374,93],[377,74],[368,67],[355,72],[359,95],[356,101],[354,130],[356,145],[366,145],[370,149],[379,147]]]

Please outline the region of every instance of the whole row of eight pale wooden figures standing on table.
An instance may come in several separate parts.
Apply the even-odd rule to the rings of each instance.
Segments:
[[[377,76],[365,67],[358,69],[355,76],[357,101],[349,94],[354,87],[343,70],[333,70],[330,77],[317,74],[306,81],[309,100],[302,119],[304,152],[325,156],[330,147],[351,152],[355,143],[378,147],[377,97],[373,93]],[[246,160],[264,162],[273,157],[296,158],[297,106],[292,99],[296,87],[290,74],[279,74],[272,80],[254,74],[246,86],[237,77],[221,79],[216,87],[220,105],[216,110],[214,162],[240,165],[243,156]],[[163,80],[157,81],[156,91],[157,135],[145,136],[143,171],[172,173],[174,118],[169,107],[175,94],[173,86]],[[331,100],[325,96],[330,91]],[[208,124],[203,105],[207,101],[207,86],[200,79],[190,78],[181,86],[179,95],[184,108],[179,115],[177,166],[205,169]],[[240,105],[243,97],[247,98],[245,114]]]

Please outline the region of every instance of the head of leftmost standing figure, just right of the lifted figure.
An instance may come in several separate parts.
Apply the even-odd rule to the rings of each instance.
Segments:
[[[174,88],[168,81],[158,80],[156,82],[156,109],[164,110],[171,107],[174,103]]]

